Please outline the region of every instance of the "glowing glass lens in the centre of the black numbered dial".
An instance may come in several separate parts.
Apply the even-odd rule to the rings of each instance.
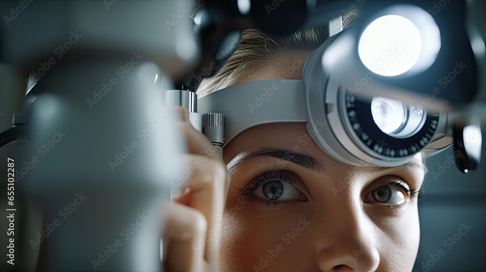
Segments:
[[[405,105],[384,97],[371,100],[371,115],[382,132],[396,138],[414,135],[425,122],[426,111],[420,105]]]

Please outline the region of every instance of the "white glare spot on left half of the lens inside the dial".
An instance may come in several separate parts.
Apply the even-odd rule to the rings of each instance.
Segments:
[[[405,122],[407,108],[402,102],[384,97],[371,100],[373,120],[386,134],[397,131]]]

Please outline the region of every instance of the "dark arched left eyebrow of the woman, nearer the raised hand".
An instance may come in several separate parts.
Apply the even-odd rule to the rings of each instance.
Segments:
[[[236,160],[231,166],[229,166],[228,164],[228,171],[235,167],[238,167],[240,164],[243,163],[243,161],[247,159],[260,156],[271,156],[282,160],[287,160],[302,168],[324,173],[324,166],[319,160],[291,150],[275,147],[262,147],[253,151],[252,153],[246,154],[242,158]]]

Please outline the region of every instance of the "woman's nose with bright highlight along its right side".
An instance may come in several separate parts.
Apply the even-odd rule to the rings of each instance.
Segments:
[[[367,272],[376,269],[380,262],[373,223],[364,214],[359,196],[351,191],[327,201],[328,207],[320,214],[317,261],[321,271],[338,267],[340,270],[336,271]]]

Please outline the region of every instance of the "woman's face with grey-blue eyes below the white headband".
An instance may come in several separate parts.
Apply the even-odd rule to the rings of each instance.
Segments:
[[[221,271],[412,271],[420,157],[396,168],[343,164],[303,123],[250,128],[223,155]]]

